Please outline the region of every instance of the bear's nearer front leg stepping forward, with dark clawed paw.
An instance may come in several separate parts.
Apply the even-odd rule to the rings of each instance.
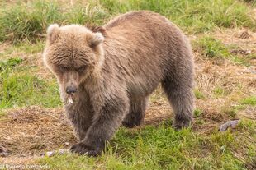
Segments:
[[[100,113],[89,127],[85,138],[71,147],[71,151],[88,156],[97,156],[102,153],[107,140],[111,140],[116,129],[128,111],[128,99],[117,97],[107,100]]]

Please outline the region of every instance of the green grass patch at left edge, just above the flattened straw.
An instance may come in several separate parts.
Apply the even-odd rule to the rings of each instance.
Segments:
[[[8,76],[8,77],[7,77]],[[55,82],[45,82],[25,72],[4,75],[1,85],[0,108],[42,105],[46,108],[60,105],[59,88]]]

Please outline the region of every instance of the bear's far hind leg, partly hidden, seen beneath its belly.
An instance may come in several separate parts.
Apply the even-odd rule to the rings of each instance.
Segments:
[[[130,99],[130,110],[122,122],[123,126],[128,128],[140,126],[140,124],[144,121],[148,100],[148,97]]]

